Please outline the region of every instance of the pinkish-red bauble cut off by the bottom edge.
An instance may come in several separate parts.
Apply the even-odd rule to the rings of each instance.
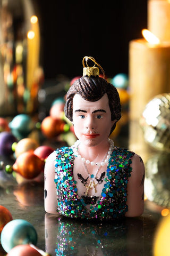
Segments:
[[[41,254],[28,244],[13,247],[6,256],[41,256]]]

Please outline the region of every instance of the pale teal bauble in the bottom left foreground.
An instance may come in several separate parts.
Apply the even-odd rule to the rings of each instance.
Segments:
[[[6,252],[20,244],[37,244],[37,232],[26,220],[16,219],[8,222],[1,233],[1,244]]]

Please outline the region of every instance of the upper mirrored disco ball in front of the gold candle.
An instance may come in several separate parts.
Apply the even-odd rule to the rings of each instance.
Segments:
[[[170,152],[170,93],[159,94],[148,102],[140,125],[150,146]]]

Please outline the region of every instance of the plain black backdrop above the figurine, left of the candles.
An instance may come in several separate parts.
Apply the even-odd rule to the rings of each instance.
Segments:
[[[109,77],[128,74],[129,42],[147,28],[147,0],[35,0],[45,79],[82,75],[82,58],[94,57]]]

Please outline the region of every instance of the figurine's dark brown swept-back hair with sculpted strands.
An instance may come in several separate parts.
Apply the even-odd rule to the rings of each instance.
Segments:
[[[73,97],[79,94],[84,100],[97,101],[107,93],[109,107],[111,109],[111,119],[118,121],[121,118],[120,97],[115,86],[108,83],[101,77],[84,77],[75,80],[66,94],[64,113],[70,121],[73,121]],[[116,122],[117,122],[116,121]],[[111,133],[114,131],[116,123],[112,126]]]

